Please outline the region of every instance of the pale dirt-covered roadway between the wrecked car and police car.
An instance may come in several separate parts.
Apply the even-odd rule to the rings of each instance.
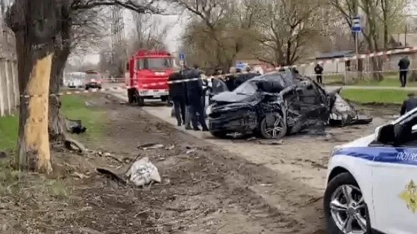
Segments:
[[[126,101],[127,95],[123,89],[111,91],[110,94]],[[171,118],[171,107],[150,102],[142,109],[173,127],[176,124],[176,120]],[[363,114],[374,116],[373,123],[329,127],[327,134],[322,136],[287,136],[278,143],[257,138],[216,139],[209,133],[198,131],[186,133],[200,142],[222,150],[231,157],[228,163],[243,163],[246,175],[242,180],[246,180],[249,190],[262,198],[270,209],[293,220],[288,228],[275,233],[324,233],[322,195],[326,186],[327,162],[331,149],[373,133],[377,126],[393,120],[399,111],[395,105],[365,106],[358,109]],[[175,128],[184,131],[182,127]]]

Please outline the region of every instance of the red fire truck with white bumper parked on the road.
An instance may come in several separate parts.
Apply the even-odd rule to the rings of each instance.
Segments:
[[[129,58],[126,71],[129,103],[143,106],[145,99],[168,100],[168,76],[174,57],[164,51],[139,50]]]

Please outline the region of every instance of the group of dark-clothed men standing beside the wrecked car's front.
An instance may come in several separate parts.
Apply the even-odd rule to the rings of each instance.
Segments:
[[[174,104],[178,126],[184,125],[186,129],[194,129],[195,131],[209,131],[204,116],[205,90],[200,79],[201,74],[202,72],[197,66],[185,67],[184,70],[171,74],[168,80],[174,82],[169,85],[169,96]],[[199,79],[182,82],[193,78]]]

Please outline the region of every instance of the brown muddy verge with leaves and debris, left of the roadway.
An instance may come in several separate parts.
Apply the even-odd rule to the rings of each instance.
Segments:
[[[239,150],[231,153],[144,109],[99,95],[90,103],[106,109],[110,123],[106,136],[85,143],[104,153],[55,149],[52,175],[26,175],[1,196],[0,233],[324,233],[320,194],[269,164],[237,156],[249,150],[240,148],[246,142],[233,141],[229,147]],[[164,148],[137,149],[154,142]],[[95,171],[124,173],[138,156],[156,165],[161,184],[125,186]],[[269,203],[265,194],[280,202]]]

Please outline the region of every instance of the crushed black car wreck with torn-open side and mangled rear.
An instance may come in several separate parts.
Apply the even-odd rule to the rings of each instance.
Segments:
[[[358,115],[339,95],[340,89],[326,92],[315,81],[291,70],[256,76],[233,92],[216,91],[206,114],[211,134],[218,138],[235,133],[257,134],[267,139],[300,132],[324,134],[326,125],[372,121]]]

